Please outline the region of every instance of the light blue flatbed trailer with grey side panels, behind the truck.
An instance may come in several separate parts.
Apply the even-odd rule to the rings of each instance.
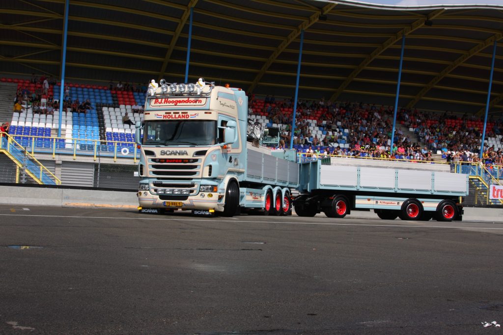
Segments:
[[[460,198],[468,195],[468,175],[316,160],[300,164],[298,191],[293,205],[299,216],[344,217],[351,210],[373,209],[382,219],[452,221],[462,219]]]

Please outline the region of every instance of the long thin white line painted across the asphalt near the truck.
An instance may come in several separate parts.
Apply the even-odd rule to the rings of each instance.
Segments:
[[[36,214],[0,214],[0,216],[33,216],[33,217],[70,217],[70,218],[105,218],[116,220],[162,220],[162,221],[201,221],[197,218],[157,218],[157,217],[110,217],[110,216],[70,216],[70,215],[36,215]],[[212,220],[208,220],[212,221]],[[218,220],[217,222],[232,222],[231,220]],[[400,228],[444,228],[444,229],[493,229],[503,230],[503,228],[491,227],[465,227],[465,226],[418,226],[418,225],[370,225],[370,224],[343,224],[334,222],[295,222],[295,221],[255,221],[240,220],[242,223],[252,224],[292,224],[292,225],[322,225],[322,226],[363,226],[363,227],[400,227]],[[473,223],[473,222],[470,222]],[[480,222],[481,224],[491,224],[493,222]],[[499,224],[498,224],[499,225]]]

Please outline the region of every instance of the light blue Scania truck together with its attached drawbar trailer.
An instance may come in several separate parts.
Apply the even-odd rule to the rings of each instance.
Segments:
[[[374,210],[382,219],[462,218],[468,175],[427,164],[277,157],[258,145],[247,107],[239,88],[161,80],[147,95],[144,125],[136,125],[138,209],[289,215],[293,205],[299,216]]]

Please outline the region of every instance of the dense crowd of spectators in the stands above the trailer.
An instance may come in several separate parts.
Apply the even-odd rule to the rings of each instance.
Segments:
[[[255,105],[255,96],[250,96],[250,106]],[[273,96],[266,96],[263,113],[274,124],[284,125],[284,134],[280,147],[289,147],[292,133],[292,113],[284,113],[285,108],[293,106],[293,98],[277,101]],[[252,109],[253,110],[253,109]],[[315,119],[322,125],[326,134],[318,137],[311,134],[309,120]],[[447,122],[447,121],[452,122]],[[428,122],[427,122],[428,121]],[[443,153],[448,162],[491,161],[502,163],[501,150],[486,147],[484,156],[479,158],[482,129],[472,125],[478,121],[473,115],[455,115],[454,113],[434,113],[417,109],[400,109],[397,123],[405,128],[412,128],[414,138],[405,136],[400,127],[396,127],[391,140],[393,107],[377,106],[359,102],[331,102],[320,100],[298,100],[294,148],[307,155],[344,155],[353,157],[374,157],[404,159],[411,161],[432,161],[432,154]],[[486,137],[496,137],[503,129],[503,119],[490,118],[492,126],[487,129]],[[347,130],[344,133],[343,130]],[[342,148],[341,144],[349,144]],[[310,149],[309,149],[310,148]],[[312,150],[312,153],[310,152]]]

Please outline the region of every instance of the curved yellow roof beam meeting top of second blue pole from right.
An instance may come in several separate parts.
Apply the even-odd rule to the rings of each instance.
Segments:
[[[415,30],[424,27],[426,21],[430,21],[444,13],[445,9],[440,9],[436,10],[432,13],[430,13],[427,17],[419,19],[414,21],[412,24],[410,24],[408,27],[403,28],[401,31],[396,33],[394,36],[390,37],[387,41],[385,41],[383,44],[381,44],[380,47],[378,47],[376,50],[374,50],[365,60],[360,63],[360,65],[346,78],[346,80],[339,86],[337,91],[332,94],[330,97],[331,101],[336,101],[339,95],[348,87],[348,85],[353,81],[353,79],[360,73],[362,72],[363,69],[367,65],[369,65],[377,56],[379,56],[381,53],[383,53],[386,49],[388,49],[390,46],[394,45],[397,41],[399,41],[402,36],[407,36],[410,33],[414,32]]]

